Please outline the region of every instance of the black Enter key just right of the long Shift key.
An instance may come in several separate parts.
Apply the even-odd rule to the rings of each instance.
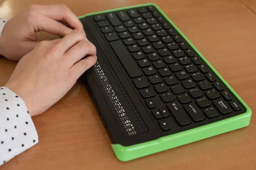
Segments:
[[[184,106],[184,109],[195,122],[203,121],[205,119],[201,109],[199,109],[195,104],[187,104]]]

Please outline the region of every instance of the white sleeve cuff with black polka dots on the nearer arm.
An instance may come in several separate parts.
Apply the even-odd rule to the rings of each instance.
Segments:
[[[0,87],[0,165],[38,143],[38,134],[24,101]]]

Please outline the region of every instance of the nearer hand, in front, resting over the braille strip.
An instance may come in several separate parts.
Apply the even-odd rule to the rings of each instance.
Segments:
[[[96,47],[74,30],[62,39],[40,42],[19,61],[5,86],[23,99],[31,116],[38,115],[59,101],[96,60]]]

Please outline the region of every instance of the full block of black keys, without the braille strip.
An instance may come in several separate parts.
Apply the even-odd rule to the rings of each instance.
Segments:
[[[161,133],[177,133],[245,112],[154,6],[97,14],[93,20]]]

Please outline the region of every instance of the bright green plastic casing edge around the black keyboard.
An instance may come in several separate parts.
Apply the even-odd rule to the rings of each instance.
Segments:
[[[216,73],[216,75],[223,81],[224,84],[230,89],[231,92],[241,101],[247,111],[241,115],[234,116],[232,118],[227,118],[222,121],[217,121],[215,123],[207,124],[201,127],[197,127],[191,130],[186,130],[180,133],[175,133],[172,135],[164,136],[153,141],[144,142],[141,144],[135,144],[128,147],[122,146],[121,144],[112,144],[112,148],[116,154],[116,157],[120,161],[129,161],[135,158],[140,158],[142,156],[147,156],[153,153],[157,153],[163,150],[168,150],[174,147],[178,147],[184,144],[189,144],[194,141],[199,141],[204,138],[209,138],[211,136],[219,135],[221,133],[226,133],[232,130],[236,130],[242,127],[246,127],[250,123],[251,109],[244,103],[244,101],[239,97],[239,95],[230,87],[229,84],[221,77],[221,75],[212,67],[212,65],[204,58],[204,56],[198,51],[198,49],[193,46],[193,44],[187,39],[185,35],[177,28],[177,26],[163,13],[163,11],[156,4],[142,4],[137,6],[128,6],[125,8],[112,9],[102,12],[95,12],[86,14],[79,18],[83,18],[89,15],[101,14],[106,12],[114,12],[122,9],[137,8],[141,6],[155,6],[161,14],[175,27],[175,29],[180,33],[181,36],[192,46],[193,49],[201,56],[201,58],[208,64],[208,66]]]

